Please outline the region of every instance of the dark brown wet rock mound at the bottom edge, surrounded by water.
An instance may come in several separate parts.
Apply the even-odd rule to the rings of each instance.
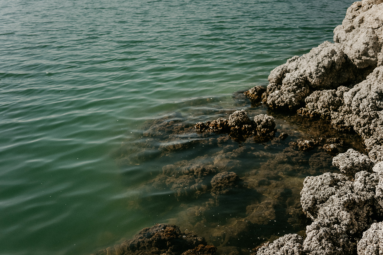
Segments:
[[[108,247],[93,255],[215,255],[216,248],[193,232],[181,232],[179,227],[155,224],[142,229],[133,239]]]

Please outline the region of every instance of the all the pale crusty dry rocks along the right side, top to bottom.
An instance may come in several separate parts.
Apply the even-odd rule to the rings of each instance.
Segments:
[[[313,220],[306,237],[288,234],[257,255],[383,254],[383,0],[353,3],[334,43],[324,42],[294,56],[268,77],[262,100],[331,121],[357,132],[368,155],[353,149],[334,157],[340,170],[309,176],[301,191],[303,212]]]

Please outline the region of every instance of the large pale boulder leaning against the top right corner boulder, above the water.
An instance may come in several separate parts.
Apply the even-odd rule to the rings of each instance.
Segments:
[[[296,110],[313,91],[356,84],[369,72],[358,69],[343,52],[341,44],[326,41],[309,53],[294,56],[273,69],[264,100],[272,109]]]

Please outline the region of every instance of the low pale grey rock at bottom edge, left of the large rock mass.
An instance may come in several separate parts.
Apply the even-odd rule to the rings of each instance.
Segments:
[[[298,234],[286,234],[274,242],[260,247],[257,255],[303,255],[303,238]]]

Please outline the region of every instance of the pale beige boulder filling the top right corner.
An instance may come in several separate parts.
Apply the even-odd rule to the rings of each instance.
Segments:
[[[334,42],[342,44],[344,52],[358,68],[383,63],[383,5],[380,3],[381,0],[353,3],[342,25],[334,29]]]

